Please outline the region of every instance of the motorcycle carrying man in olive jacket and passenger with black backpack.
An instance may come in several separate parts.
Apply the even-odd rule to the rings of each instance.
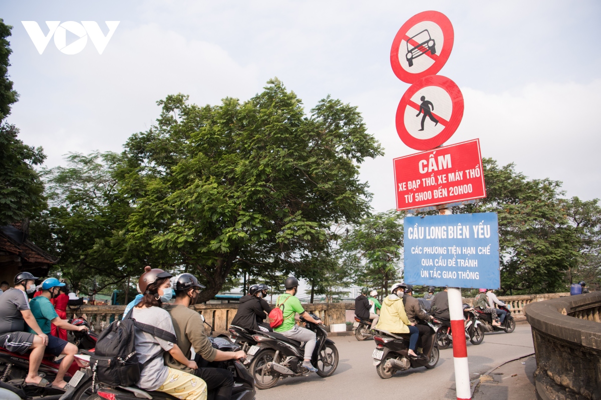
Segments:
[[[224,337],[212,338],[209,337],[209,341],[212,343],[214,348],[221,351],[238,351],[240,347],[233,344],[230,339]],[[78,356],[76,356],[76,359]],[[252,400],[255,398],[257,391],[255,390],[254,379],[252,375],[246,370],[244,365],[238,360],[225,360],[225,361],[214,361],[207,362],[200,354],[195,357],[195,362],[199,368],[224,368],[230,371],[234,377],[234,387],[231,394],[232,400]],[[82,381],[75,392],[69,398],[61,400],[100,400],[100,399],[113,399],[113,400],[134,400],[138,398],[156,399],[156,400],[179,400],[178,398],[168,395],[163,392],[153,392],[150,390],[142,390],[138,387],[112,387],[103,383],[97,383],[97,393],[94,394],[92,387],[92,372],[90,369],[90,357],[87,357],[87,373],[88,379]],[[213,399],[215,393],[207,393],[207,400]]]

